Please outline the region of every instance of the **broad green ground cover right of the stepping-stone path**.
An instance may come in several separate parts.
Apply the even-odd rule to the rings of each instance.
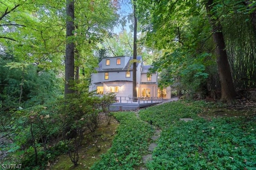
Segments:
[[[148,162],[147,168],[255,169],[255,117],[238,116],[230,110],[224,112],[225,117],[216,117],[214,108],[225,111],[223,105],[202,101],[178,101],[140,111],[141,119],[152,120],[162,129],[153,161]],[[200,117],[205,112],[207,119]],[[194,121],[179,120],[185,117]]]

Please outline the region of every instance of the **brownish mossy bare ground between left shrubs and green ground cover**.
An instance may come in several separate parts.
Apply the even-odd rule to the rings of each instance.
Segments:
[[[82,147],[78,151],[79,160],[77,167],[73,166],[68,154],[64,154],[59,156],[58,160],[52,162],[48,170],[89,169],[94,162],[100,159],[100,155],[107,152],[111,147],[118,125],[119,123],[114,119],[111,125],[107,125],[107,122],[103,121],[96,132],[87,132],[84,134]],[[97,142],[95,143],[95,141]],[[98,150],[96,145],[100,150]]]

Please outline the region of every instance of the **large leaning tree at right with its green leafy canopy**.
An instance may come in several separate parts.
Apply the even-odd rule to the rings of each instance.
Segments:
[[[244,15],[246,15],[246,12],[244,11],[244,7],[241,7],[244,6],[241,5],[242,1],[225,0],[223,2],[212,0],[211,2],[210,6],[208,6],[208,1],[204,0],[177,0],[175,2],[167,0],[137,0],[138,19],[141,19],[143,30],[146,32],[145,40],[147,45],[155,49],[166,51],[163,53],[163,59],[161,60],[163,64],[162,68],[166,70],[169,70],[167,69],[168,64],[175,63],[175,65],[178,64],[182,67],[187,66],[184,68],[190,68],[184,69],[183,71],[178,68],[176,72],[180,75],[183,73],[192,73],[194,68],[203,68],[199,69],[199,72],[195,72],[194,76],[198,76],[198,73],[200,73],[200,75],[207,77],[207,74],[211,74],[210,72],[206,72],[211,70],[207,69],[210,67],[209,63],[211,60],[214,61],[215,57],[217,57],[218,73],[222,84],[221,101],[233,103],[235,101],[235,93],[232,76],[234,75],[231,74],[230,68],[228,67],[227,52],[222,50],[226,49],[225,41],[230,40],[230,37],[224,37],[227,34],[222,33],[220,26],[225,24],[226,30],[224,30],[224,32],[228,32],[228,28],[234,27],[234,25],[231,26],[226,23],[230,22],[230,20],[232,20],[235,15],[240,14],[241,11]],[[193,18],[198,21],[193,20]],[[205,22],[207,20],[210,24]],[[249,22],[250,19],[246,19],[245,21]],[[244,22],[244,20],[241,18],[240,22]],[[191,27],[193,23],[198,23],[199,26]],[[213,29],[215,30],[213,31]],[[240,33],[237,32],[236,34]],[[244,40],[244,42],[246,41]],[[221,49],[217,49],[217,51],[214,52],[215,50],[212,47]],[[235,51],[235,53],[236,52],[237,51]],[[234,53],[234,51],[228,51],[228,53]],[[220,55],[222,55],[222,57],[219,57]],[[225,59],[225,61],[223,61],[224,63],[220,61],[220,59]],[[190,63],[184,61],[190,61]],[[203,67],[195,65],[198,61],[201,62],[200,65]],[[196,67],[192,67],[191,65]],[[223,71],[222,67],[227,70]],[[238,72],[241,71],[236,71],[236,73]],[[232,71],[232,73],[234,73],[234,71]],[[171,73],[169,75],[171,75]],[[170,77],[170,79],[171,78],[173,77]],[[228,89],[226,87],[228,87]]]

